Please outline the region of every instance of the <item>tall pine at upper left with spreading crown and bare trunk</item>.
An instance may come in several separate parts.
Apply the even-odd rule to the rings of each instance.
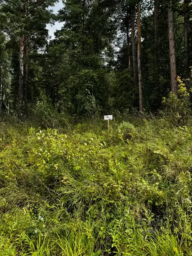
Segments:
[[[4,19],[2,29],[19,46],[19,86],[18,103],[21,108],[28,91],[28,54],[45,44],[48,36],[46,24],[53,17],[47,7],[53,5],[56,0],[5,0],[1,1],[1,20]],[[26,66],[26,78],[24,79]]]

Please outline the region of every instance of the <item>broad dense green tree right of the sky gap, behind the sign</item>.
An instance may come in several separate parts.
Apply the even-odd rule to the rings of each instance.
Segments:
[[[96,104],[107,104],[103,51],[113,34],[110,14],[105,1],[90,0],[67,0],[60,11],[64,26],[54,41],[65,49],[61,104],[71,113],[93,113]]]

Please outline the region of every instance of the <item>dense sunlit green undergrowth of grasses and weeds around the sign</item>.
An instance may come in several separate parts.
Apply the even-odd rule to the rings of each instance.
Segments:
[[[1,123],[0,255],[192,255],[192,128]]]

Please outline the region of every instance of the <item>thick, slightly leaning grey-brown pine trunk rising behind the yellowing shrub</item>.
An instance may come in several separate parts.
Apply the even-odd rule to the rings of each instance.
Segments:
[[[172,1],[168,7],[168,29],[169,29],[169,56],[170,56],[170,70],[171,70],[171,91],[177,94],[177,72],[175,59],[175,39],[173,31],[173,9]]]

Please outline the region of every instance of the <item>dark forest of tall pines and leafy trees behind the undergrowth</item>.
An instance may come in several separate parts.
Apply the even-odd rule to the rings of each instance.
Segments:
[[[63,0],[54,14],[57,2],[0,1],[2,113],[153,112],[177,95],[177,76],[190,92],[190,0]]]

